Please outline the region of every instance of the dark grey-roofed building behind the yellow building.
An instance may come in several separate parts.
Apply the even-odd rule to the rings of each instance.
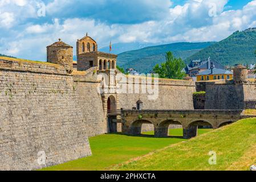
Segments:
[[[210,60],[210,57],[207,61],[202,60],[192,60],[190,64],[186,65],[185,72],[186,75],[190,77],[195,77],[198,73],[204,72],[210,69],[210,64],[213,63],[217,69],[225,69],[225,67],[214,60]]]

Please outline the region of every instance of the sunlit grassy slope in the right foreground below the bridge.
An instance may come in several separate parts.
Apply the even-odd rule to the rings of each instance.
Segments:
[[[111,169],[248,170],[256,162],[255,150],[256,118],[243,119]],[[217,152],[217,165],[208,163],[209,151]]]

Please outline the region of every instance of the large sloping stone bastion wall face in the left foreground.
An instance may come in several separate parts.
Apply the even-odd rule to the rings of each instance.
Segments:
[[[91,155],[74,81],[63,67],[0,60],[0,102],[0,170]]]

